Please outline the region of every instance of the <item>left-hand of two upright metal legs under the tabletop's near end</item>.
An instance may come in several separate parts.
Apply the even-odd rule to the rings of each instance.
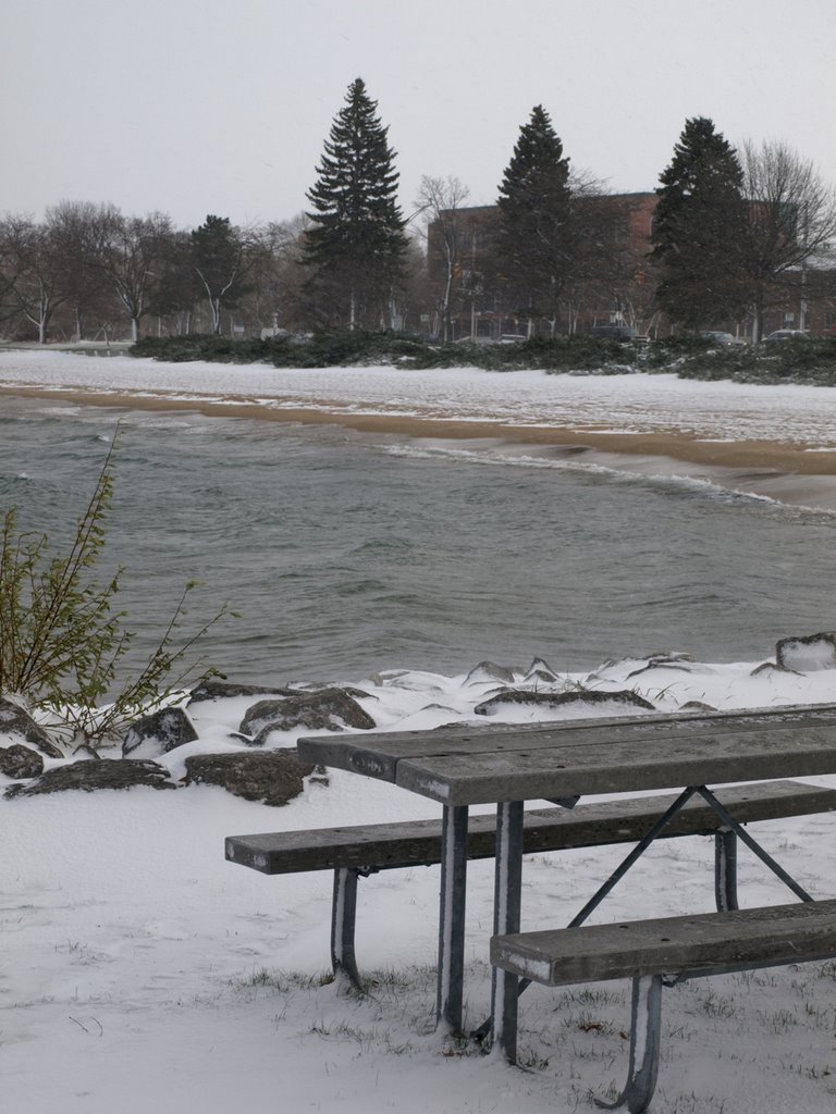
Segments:
[[[448,1033],[461,1032],[466,883],[467,805],[445,805],[441,821],[436,1020]]]

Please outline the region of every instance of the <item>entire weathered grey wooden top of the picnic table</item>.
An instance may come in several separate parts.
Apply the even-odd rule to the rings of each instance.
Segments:
[[[304,761],[446,805],[836,773],[836,705],[300,739]]]

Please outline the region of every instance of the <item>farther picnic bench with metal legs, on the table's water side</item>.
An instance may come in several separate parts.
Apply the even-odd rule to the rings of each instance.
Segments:
[[[836,811],[836,791],[778,781],[718,790],[717,798],[740,823]],[[657,795],[532,810],[525,813],[526,854],[603,847],[641,840],[674,797]],[[660,833],[661,839],[715,836],[718,908],[737,907],[733,832],[718,814],[694,799]],[[441,858],[441,821],[402,821],[226,838],[226,859],[265,874],[333,870],[331,962],[336,977],[360,986],[354,954],[357,880],[380,870],[435,866]],[[468,858],[493,858],[496,815],[468,820]]]

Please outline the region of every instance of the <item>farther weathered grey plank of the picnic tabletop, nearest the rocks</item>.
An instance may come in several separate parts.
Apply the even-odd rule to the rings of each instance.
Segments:
[[[401,759],[440,755],[477,755],[502,751],[547,750],[563,745],[610,745],[635,740],[636,745],[683,736],[720,739],[752,732],[771,732],[794,726],[836,726],[836,705],[799,705],[746,713],[640,714],[601,720],[568,720],[547,724],[486,724],[435,731],[381,732],[350,736],[303,737],[298,742],[300,759],[336,769],[350,770],[382,781],[395,781]]]

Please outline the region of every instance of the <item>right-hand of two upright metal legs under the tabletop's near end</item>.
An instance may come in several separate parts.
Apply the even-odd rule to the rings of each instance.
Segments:
[[[503,801],[496,811],[496,873],[494,881],[494,936],[519,931],[523,889],[523,801]],[[509,1064],[517,1056],[517,1000],[519,979],[495,967],[490,1001],[494,1040]]]

